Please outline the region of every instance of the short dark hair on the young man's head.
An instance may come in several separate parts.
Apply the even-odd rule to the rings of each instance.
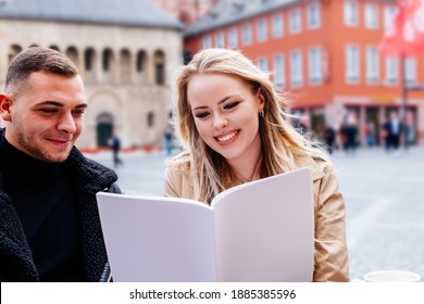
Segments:
[[[5,76],[4,91],[13,87],[18,93],[24,89],[25,80],[30,74],[45,72],[72,77],[78,74],[78,68],[63,53],[42,47],[32,47],[18,53],[10,63]]]

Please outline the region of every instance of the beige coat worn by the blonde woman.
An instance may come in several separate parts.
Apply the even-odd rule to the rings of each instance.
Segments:
[[[345,202],[333,166],[321,159],[297,160],[296,163],[298,167],[312,169],[315,206],[313,281],[349,281]],[[189,170],[167,168],[165,195],[192,199]]]

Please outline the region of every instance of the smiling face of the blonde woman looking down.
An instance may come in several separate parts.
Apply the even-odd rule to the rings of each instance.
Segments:
[[[259,112],[263,101],[242,79],[223,73],[195,75],[187,87],[196,128],[227,161],[254,159],[261,149]]]

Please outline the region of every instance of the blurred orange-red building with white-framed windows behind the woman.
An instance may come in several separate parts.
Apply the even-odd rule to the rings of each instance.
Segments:
[[[222,0],[186,28],[185,54],[241,50],[272,73],[319,135],[349,117],[362,144],[366,125],[381,143],[383,122],[397,112],[410,142],[424,143],[424,91],[403,98],[402,61],[378,52],[396,8],[396,0]],[[408,85],[424,84],[424,58],[408,58],[404,71]]]

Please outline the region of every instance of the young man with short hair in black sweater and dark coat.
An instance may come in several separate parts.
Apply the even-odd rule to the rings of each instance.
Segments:
[[[75,147],[87,107],[62,53],[29,48],[0,93],[0,281],[99,281],[108,273],[96,202],[115,173]]]

